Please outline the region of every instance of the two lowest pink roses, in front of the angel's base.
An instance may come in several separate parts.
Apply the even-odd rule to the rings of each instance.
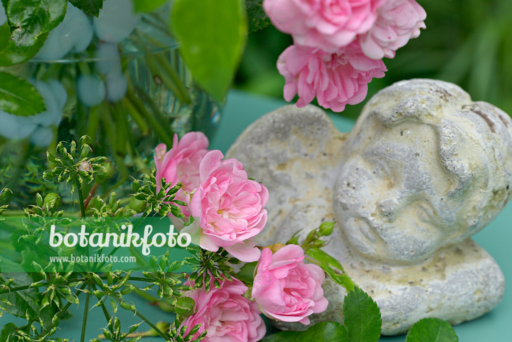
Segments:
[[[304,263],[301,246],[286,245],[272,254],[263,249],[254,276],[251,302],[244,297],[248,287],[238,279],[223,281],[187,293],[196,302],[193,315],[183,321],[185,334],[200,324],[193,336],[206,331],[206,342],[255,342],[265,336],[260,313],[283,322],[309,324],[308,316],[327,309],[322,284],[325,273],[317,265]],[[188,285],[193,285],[188,283]]]

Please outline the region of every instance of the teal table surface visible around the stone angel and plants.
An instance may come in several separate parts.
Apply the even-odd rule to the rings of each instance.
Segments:
[[[223,112],[223,117],[215,135],[210,143],[211,149],[220,149],[226,152],[229,146],[234,142],[237,136],[252,122],[257,120],[265,113],[274,110],[286,104],[284,101],[256,97],[246,93],[232,91],[228,96],[228,101]],[[341,131],[349,131],[352,128],[353,121],[343,118],[339,115],[331,115],[331,119]],[[270,189],[271,190],[271,189]],[[512,203],[503,210],[498,217],[491,222],[483,231],[474,236],[474,240],[479,243],[487,252],[494,257],[500,265],[506,282],[512,280]],[[139,298],[132,298],[137,308],[147,318],[154,322],[172,321],[170,314],[160,311],[154,306],[144,305],[144,301]],[[81,330],[81,316],[83,307],[72,306],[74,317],[69,321],[62,321],[61,330],[55,337],[67,337],[78,339]],[[121,308],[118,310],[118,316],[121,322],[131,322],[135,324],[140,322],[137,317],[129,311]],[[127,321],[124,321],[127,320]],[[0,327],[8,322],[23,324],[24,320],[4,315],[0,318]],[[87,329],[87,339],[92,339],[102,332],[100,328],[106,326],[104,316],[99,308],[93,308],[89,313]],[[124,326],[123,328],[126,328]],[[145,324],[141,325],[138,331],[148,330]],[[503,294],[502,302],[492,311],[477,318],[474,321],[465,322],[454,327],[461,342],[480,342],[480,341],[512,341],[512,288],[507,286]],[[123,329],[125,330],[125,329]],[[157,337],[147,337],[141,341],[162,341]],[[404,335],[381,337],[382,342],[403,342]],[[2,342],[2,341],[0,341]]]

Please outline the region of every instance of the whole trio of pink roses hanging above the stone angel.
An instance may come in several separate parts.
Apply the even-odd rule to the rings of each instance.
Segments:
[[[294,44],[278,59],[284,98],[303,107],[316,96],[334,111],[366,98],[387,71],[383,57],[416,38],[426,13],[415,0],[264,0],[263,8]]]

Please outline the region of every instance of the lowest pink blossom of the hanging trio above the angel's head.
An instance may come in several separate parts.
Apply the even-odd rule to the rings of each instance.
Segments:
[[[319,105],[333,111],[364,100],[368,83],[387,71],[382,60],[365,56],[357,42],[335,54],[291,45],[279,56],[278,70],[286,80],[286,101],[298,94],[297,106],[304,107],[316,96]]]

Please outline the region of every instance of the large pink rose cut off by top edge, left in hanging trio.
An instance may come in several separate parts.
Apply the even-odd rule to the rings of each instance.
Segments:
[[[334,53],[368,32],[386,0],[264,0],[263,9],[297,45]]]

